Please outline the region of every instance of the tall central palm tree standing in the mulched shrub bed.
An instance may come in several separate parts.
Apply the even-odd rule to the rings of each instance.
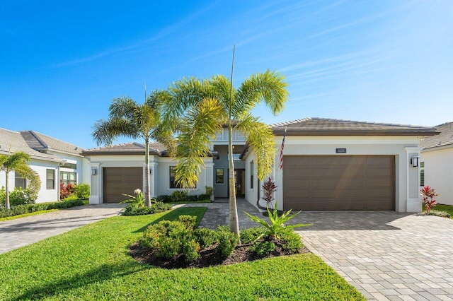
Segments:
[[[202,157],[210,151],[216,132],[223,126],[228,128],[229,222],[231,232],[237,235],[232,133],[240,131],[246,137],[256,154],[258,178],[263,180],[273,167],[274,136],[268,125],[253,117],[251,110],[264,102],[273,114],[278,114],[288,98],[286,87],[284,77],[269,70],[246,78],[237,89],[222,75],[206,80],[183,78],[168,88],[171,98],[162,106],[167,129],[179,134],[175,179],[182,187],[195,186],[203,166]]]

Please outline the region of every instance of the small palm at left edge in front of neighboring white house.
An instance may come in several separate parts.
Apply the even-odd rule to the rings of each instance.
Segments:
[[[25,179],[28,179],[28,181],[30,181],[29,188],[33,191],[35,197],[38,196],[38,191],[40,191],[41,187],[40,177],[37,172],[35,172],[28,166],[28,161],[30,161],[30,156],[23,151],[18,151],[17,153],[8,153],[8,155],[0,155],[0,170],[3,170],[6,173],[6,209],[11,208],[9,204],[8,191],[8,175],[10,172],[18,172]]]

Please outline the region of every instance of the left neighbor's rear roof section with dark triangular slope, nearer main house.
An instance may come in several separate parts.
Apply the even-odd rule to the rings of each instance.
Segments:
[[[36,131],[21,131],[21,135],[28,143],[30,148],[36,151],[57,151],[59,153],[70,153],[71,155],[80,155],[82,148],[74,146],[74,144],[67,143]]]

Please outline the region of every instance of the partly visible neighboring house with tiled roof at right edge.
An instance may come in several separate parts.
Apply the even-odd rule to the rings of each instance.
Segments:
[[[453,122],[435,129],[439,135],[423,138],[420,143],[420,186],[435,188],[437,203],[453,205]]]

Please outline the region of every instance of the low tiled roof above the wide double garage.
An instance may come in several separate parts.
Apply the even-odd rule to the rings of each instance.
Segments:
[[[432,136],[435,128],[406,124],[357,122],[351,120],[309,117],[270,125],[274,134],[282,136]]]

